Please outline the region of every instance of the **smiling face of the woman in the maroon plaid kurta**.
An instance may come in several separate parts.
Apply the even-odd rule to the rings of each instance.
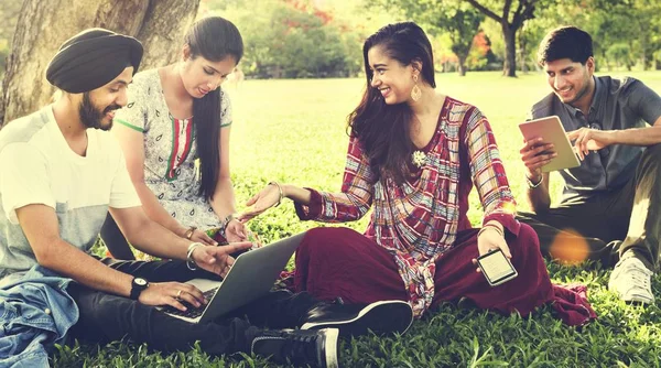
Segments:
[[[370,85],[379,90],[386,104],[412,101],[411,89],[415,85],[413,76],[420,75],[413,64],[402,65],[397,59],[389,57],[379,45],[368,51],[367,58],[372,73]]]

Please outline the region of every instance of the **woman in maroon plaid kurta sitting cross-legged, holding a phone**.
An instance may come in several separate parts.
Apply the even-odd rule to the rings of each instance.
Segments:
[[[365,235],[342,227],[307,231],[296,252],[295,290],[350,303],[404,300],[418,317],[442,301],[465,299],[525,315],[570,296],[551,283],[534,231],[514,219],[488,120],[435,90],[423,30],[412,22],[389,24],[367,39],[362,53],[367,89],[349,116],[342,193],[271,183],[240,216],[250,219],[284,197],[294,201],[301,219],[327,223],[357,220],[373,207]],[[485,208],[481,229],[466,216],[473,185]],[[519,272],[496,288],[475,264],[492,249]],[[576,313],[563,315],[571,324],[594,317],[577,300]]]

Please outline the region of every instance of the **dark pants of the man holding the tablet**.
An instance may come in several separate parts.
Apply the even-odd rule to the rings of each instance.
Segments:
[[[583,243],[587,245],[587,259],[605,266],[632,256],[655,270],[661,239],[659,175],[661,144],[655,144],[644,150],[635,177],[621,190],[563,202],[543,214],[519,213],[517,218],[538,232],[545,256],[553,256],[559,241]]]

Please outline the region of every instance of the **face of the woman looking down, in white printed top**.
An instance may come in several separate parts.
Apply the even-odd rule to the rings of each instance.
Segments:
[[[203,56],[191,55],[189,50],[185,46],[184,64],[180,68],[180,75],[188,95],[202,98],[218,88],[236,66],[236,58],[231,55],[219,62],[212,62]]]

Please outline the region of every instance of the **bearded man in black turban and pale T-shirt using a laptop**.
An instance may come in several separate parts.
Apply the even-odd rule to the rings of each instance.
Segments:
[[[21,354],[32,340],[23,334],[40,326],[43,344],[67,332],[93,343],[128,337],[163,351],[187,350],[198,340],[210,355],[243,351],[318,367],[337,367],[344,329],[403,333],[413,314],[399,301],[362,307],[273,292],[239,311],[257,326],[246,318],[192,324],[156,309],[201,307],[203,293],[183,282],[224,277],[234,262],[229,255],[250,242],[192,242],[142,209],[121,150],[106,132],[127,104],[141,57],[142,45],[129,36],[102,29],[73,36],[46,69],[62,96],[0,131],[0,337],[19,336],[0,359],[43,358],[32,347]],[[108,208],[138,249],[173,261],[90,256]],[[303,324],[314,329],[264,329]],[[30,361],[44,366],[47,357]]]

